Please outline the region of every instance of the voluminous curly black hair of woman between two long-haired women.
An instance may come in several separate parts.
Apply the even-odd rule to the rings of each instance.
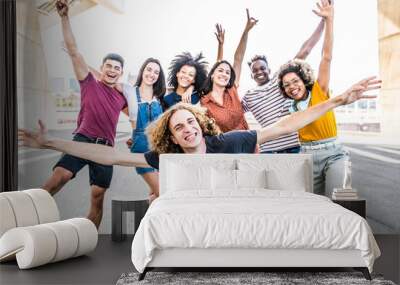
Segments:
[[[178,88],[178,78],[176,74],[181,70],[184,65],[193,66],[196,69],[196,76],[194,78],[194,90],[199,91],[207,78],[208,62],[204,60],[202,53],[193,57],[189,52],[183,52],[175,56],[169,66],[168,84],[173,87],[174,91]]]

